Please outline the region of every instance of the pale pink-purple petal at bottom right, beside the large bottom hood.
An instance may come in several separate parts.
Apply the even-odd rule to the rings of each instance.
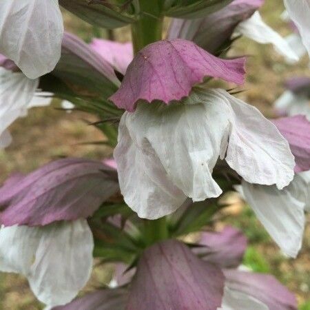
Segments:
[[[229,289],[259,300],[270,310],[297,310],[297,302],[293,293],[273,276],[233,269],[225,270],[224,274],[225,285]],[[256,308],[249,309],[256,310]]]

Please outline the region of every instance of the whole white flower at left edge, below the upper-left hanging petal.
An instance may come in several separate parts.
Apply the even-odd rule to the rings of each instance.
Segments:
[[[7,147],[12,138],[6,131],[30,107],[49,105],[51,99],[36,93],[39,79],[28,79],[21,72],[0,68],[0,148]]]

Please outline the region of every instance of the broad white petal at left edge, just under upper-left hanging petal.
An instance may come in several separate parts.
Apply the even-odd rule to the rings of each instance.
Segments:
[[[39,84],[23,73],[0,68],[0,135],[27,109]]]

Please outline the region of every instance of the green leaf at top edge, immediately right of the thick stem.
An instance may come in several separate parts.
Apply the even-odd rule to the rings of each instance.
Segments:
[[[166,0],[165,15],[182,19],[197,19],[206,17],[224,8],[232,0]]]

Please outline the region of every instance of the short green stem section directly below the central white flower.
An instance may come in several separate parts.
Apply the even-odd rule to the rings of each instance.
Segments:
[[[169,238],[167,227],[167,218],[158,218],[158,220],[145,220],[145,242],[152,245],[155,242]]]

